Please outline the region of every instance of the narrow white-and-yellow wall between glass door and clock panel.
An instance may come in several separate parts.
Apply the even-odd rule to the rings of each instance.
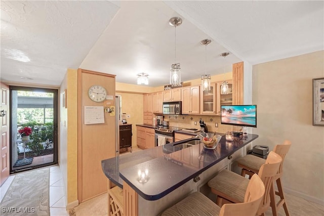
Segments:
[[[67,109],[60,106],[60,169],[64,182],[67,208],[77,201],[77,70],[68,69],[61,83],[60,103],[67,90]]]

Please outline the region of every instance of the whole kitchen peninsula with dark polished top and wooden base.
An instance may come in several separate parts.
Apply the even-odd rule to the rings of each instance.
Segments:
[[[206,149],[192,138],[102,160],[108,178],[109,215],[116,211],[158,215],[190,192],[203,188],[219,170],[230,169],[230,162],[243,156],[242,147],[257,138],[249,134],[228,142],[222,136],[215,149]]]

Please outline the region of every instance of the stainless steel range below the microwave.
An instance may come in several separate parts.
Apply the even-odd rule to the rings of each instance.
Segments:
[[[174,142],[174,132],[182,128],[175,126],[155,127],[155,146],[161,146]]]

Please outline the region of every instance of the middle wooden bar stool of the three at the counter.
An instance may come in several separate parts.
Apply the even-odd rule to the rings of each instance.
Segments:
[[[264,215],[264,212],[270,207],[270,191],[273,179],[279,169],[281,157],[271,151],[264,164],[259,170],[259,177],[264,183],[264,198],[258,208],[257,214]],[[227,169],[222,170],[218,175],[208,182],[209,187],[217,195],[216,204],[222,206],[224,203],[244,202],[244,191],[251,180],[246,179],[235,172]]]

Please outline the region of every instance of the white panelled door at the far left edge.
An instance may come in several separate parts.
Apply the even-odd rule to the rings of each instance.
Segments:
[[[6,84],[1,83],[0,94],[0,126],[1,126],[1,138],[0,138],[0,186],[9,177],[9,87]]]

